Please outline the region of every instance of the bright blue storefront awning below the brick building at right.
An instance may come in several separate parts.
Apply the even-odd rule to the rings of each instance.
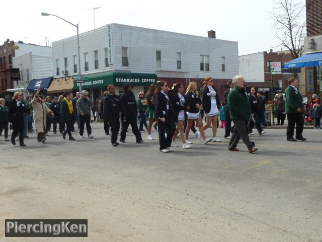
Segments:
[[[301,57],[285,63],[284,69],[317,66],[322,66],[322,52],[304,54]]]

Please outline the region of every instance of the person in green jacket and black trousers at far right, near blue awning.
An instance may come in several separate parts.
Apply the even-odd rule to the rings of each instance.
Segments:
[[[287,132],[286,139],[287,141],[306,141],[303,138],[303,126],[304,126],[304,118],[302,115],[302,95],[297,89],[299,82],[296,78],[292,77],[288,79],[289,86],[285,90],[285,112],[287,114]],[[296,124],[296,136],[294,135],[294,127]]]

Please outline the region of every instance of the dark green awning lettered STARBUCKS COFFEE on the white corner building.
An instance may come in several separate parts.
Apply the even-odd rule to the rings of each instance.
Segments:
[[[88,79],[82,84],[83,89],[107,87],[110,84],[123,86],[125,83],[131,83],[133,86],[149,86],[157,81],[156,74],[151,73],[108,72],[88,76],[84,75],[84,77]],[[74,80],[74,89],[79,89],[76,80]]]

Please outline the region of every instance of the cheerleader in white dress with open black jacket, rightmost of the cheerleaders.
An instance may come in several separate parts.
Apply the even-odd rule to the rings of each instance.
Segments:
[[[218,92],[213,86],[212,77],[206,77],[203,85],[201,97],[206,117],[206,124],[203,126],[203,129],[208,129],[212,124],[212,142],[220,142],[220,140],[216,138],[218,114],[220,109]]]

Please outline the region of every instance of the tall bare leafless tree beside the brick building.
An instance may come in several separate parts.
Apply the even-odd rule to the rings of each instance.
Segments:
[[[302,44],[305,33],[306,21],[304,19],[305,4],[292,0],[276,0],[270,18],[274,20],[273,27],[281,44],[287,48],[292,57],[302,55]]]

